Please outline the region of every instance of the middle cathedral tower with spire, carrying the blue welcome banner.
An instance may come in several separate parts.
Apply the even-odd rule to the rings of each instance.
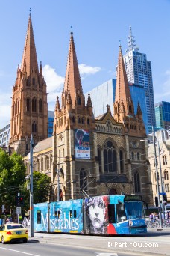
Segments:
[[[56,169],[60,171],[60,189],[63,199],[78,198],[80,195],[82,177],[94,162],[92,150],[95,119],[92,113],[90,95],[85,103],[78,61],[75,52],[73,33],[69,42],[69,55],[66,66],[66,77],[61,101],[57,97],[54,110],[53,180],[56,179]],[[88,177],[87,177],[88,178]],[[77,180],[75,182],[74,180]],[[55,183],[55,182],[54,182]]]

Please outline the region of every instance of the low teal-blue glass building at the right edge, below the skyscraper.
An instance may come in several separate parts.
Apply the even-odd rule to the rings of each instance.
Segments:
[[[154,110],[157,127],[170,129],[170,103],[166,101],[156,103]]]

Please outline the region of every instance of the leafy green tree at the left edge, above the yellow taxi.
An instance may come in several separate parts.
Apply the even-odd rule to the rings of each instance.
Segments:
[[[13,153],[9,156],[0,148],[0,204],[7,211],[16,206],[16,195],[25,183],[26,168],[22,156]]]

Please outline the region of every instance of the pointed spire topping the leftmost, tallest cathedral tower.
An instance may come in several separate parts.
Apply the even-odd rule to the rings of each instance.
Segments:
[[[21,71],[24,70],[27,72],[27,76],[30,76],[31,70],[35,70],[37,73],[39,72],[37,63],[37,53],[34,42],[33,26],[31,21],[31,13],[28,19],[28,30],[25,39],[24,52],[22,55]]]

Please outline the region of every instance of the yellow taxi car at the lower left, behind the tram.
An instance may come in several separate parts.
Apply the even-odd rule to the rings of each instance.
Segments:
[[[28,241],[28,229],[19,223],[7,223],[0,226],[0,242],[7,243],[22,240],[23,243]]]

